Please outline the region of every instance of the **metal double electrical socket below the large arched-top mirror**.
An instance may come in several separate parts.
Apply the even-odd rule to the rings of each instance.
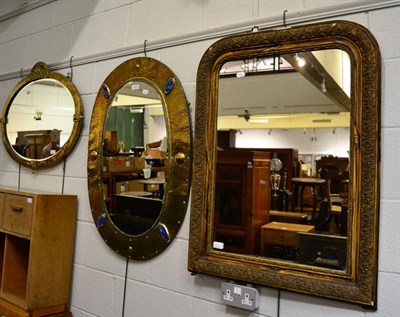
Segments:
[[[223,282],[222,302],[246,310],[256,310],[260,305],[260,291],[254,287]]]

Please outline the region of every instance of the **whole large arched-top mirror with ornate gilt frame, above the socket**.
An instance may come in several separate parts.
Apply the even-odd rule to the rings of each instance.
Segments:
[[[188,269],[376,307],[380,53],[344,21],[228,37],[197,77]]]

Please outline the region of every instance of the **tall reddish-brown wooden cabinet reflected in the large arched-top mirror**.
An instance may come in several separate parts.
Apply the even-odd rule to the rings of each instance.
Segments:
[[[260,151],[217,152],[214,219],[217,248],[259,253],[260,228],[269,217],[269,157],[269,153]]]

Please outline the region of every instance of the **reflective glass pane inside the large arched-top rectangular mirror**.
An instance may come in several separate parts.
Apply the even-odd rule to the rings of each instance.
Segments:
[[[350,110],[351,64],[343,50],[224,63],[219,72],[217,133],[221,138],[217,140],[213,246],[343,270]],[[230,144],[224,142],[224,135]],[[298,166],[285,160],[283,149],[297,153]],[[265,171],[264,179],[249,191],[246,181],[252,175],[247,172],[256,167],[244,162],[242,174],[237,173],[241,151],[234,150],[268,153],[266,160],[275,156],[279,166],[271,166],[271,173]],[[322,157],[332,160],[323,165]],[[258,191],[257,202],[248,201],[246,195]]]

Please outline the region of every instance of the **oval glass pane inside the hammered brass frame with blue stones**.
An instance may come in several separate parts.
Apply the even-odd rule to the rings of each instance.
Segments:
[[[168,175],[167,131],[158,91],[143,80],[122,87],[105,123],[103,179],[107,212],[128,235],[140,235],[158,219]]]

